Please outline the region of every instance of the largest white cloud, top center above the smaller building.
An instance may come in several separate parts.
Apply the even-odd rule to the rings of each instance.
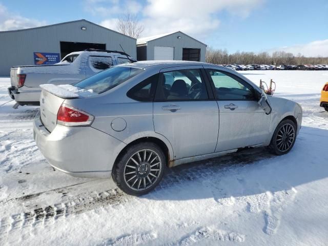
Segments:
[[[196,38],[215,32],[220,25],[218,13],[247,17],[265,0],[148,0],[144,6],[133,0],[113,3],[113,0],[93,1],[88,11],[105,18],[100,25],[115,29],[115,19],[127,12],[138,14],[145,30],[142,36],[151,36],[180,30]],[[96,4],[95,4],[96,3]]]

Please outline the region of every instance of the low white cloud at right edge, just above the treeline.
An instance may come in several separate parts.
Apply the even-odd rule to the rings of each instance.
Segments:
[[[308,44],[293,45],[270,50],[270,52],[274,51],[285,51],[293,53],[294,55],[301,53],[302,55],[308,57],[328,57],[328,39],[316,40]]]

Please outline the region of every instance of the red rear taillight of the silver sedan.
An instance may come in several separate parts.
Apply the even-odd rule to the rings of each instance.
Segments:
[[[57,113],[57,124],[62,126],[90,126],[93,119],[93,115],[67,104],[62,104]]]

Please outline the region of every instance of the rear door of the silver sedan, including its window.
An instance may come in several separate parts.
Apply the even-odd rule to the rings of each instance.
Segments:
[[[154,129],[171,142],[174,159],[215,151],[219,112],[204,76],[201,66],[160,70],[153,104]]]

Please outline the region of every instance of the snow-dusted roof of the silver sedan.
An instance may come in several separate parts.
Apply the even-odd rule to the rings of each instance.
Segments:
[[[120,66],[129,66],[129,67],[135,67],[135,68],[141,68],[146,69],[148,67],[157,66],[160,68],[166,68],[166,67],[172,67],[172,66],[192,66],[192,65],[198,65],[198,66],[205,66],[205,65],[211,65],[210,63],[201,63],[199,61],[189,61],[189,60],[144,60],[144,61],[137,61],[136,63],[132,64],[122,64]],[[218,66],[218,65],[215,65]]]

